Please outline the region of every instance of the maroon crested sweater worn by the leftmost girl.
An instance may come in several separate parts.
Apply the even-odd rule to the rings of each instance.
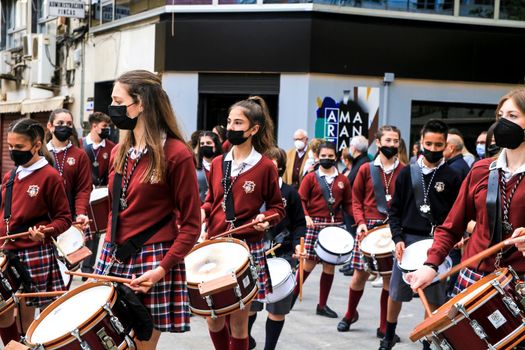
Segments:
[[[2,180],[2,206],[0,221],[0,237],[6,235],[4,218],[5,185],[9,181],[11,172],[7,172]],[[35,218],[46,219],[34,222]],[[20,227],[45,225],[53,227],[55,231],[49,235],[58,236],[71,226],[71,214],[66,197],[66,191],[60,175],[52,166],[46,165],[22,180],[15,177],[13,183],[13,196],[11,204],[11,220],[9,220],[9,231],[11,234],[20,232]],[[24,249],[37,247],[41,242],[33,242],[30,239],[17,239],[9,241],[5,249]]]

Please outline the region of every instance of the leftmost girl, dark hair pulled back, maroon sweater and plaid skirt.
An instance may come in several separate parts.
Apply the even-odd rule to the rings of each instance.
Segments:
[[[49,236],[56,237],[66,231],[71,225],[71,214],[64,182],[45,157],[49,157],[49,153],[44,134],[44,128],[29,118],[14,121],[7,131],[7,145],[16,168],[5,174],[2,181],[0,236],[24,231],[29,231],[30,236],[2,241],[1,249],[20,276],[24,275],[21,271],[29,273],[28,279],[22,279],[26,292],[66,289]],[[43,231],[46,227],[53,232],[46,235]],[[35,309],[53,299],[32,298],[28,303],[20,303],[17,320],[14,308],[5,310],[0,315],[0,337],[4,345],[20,340],[20,334],[25,333],[34,320]]]

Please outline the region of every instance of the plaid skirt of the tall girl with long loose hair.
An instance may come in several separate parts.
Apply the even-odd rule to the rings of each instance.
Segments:
[[[171,243],[144,245],[125,263],[115,262],[109,271],[105,271],[111,261],[111,246],[111,243],[104,242],[95,273],[131,278],[132,275],[140,276],[158,267],[170,249]],[[157,330],[172,333],[189,331],[190,309],[184,262],[173,266],[162,280],[153,285],[148,293],[143,294],[142,302],[149,310]]]

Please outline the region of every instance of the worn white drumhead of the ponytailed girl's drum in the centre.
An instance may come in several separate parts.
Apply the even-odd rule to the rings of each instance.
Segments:
[[[241,244],[217,241],[204,245],[186,256],[186,279],[201,283],[236,272],[250,252]]]

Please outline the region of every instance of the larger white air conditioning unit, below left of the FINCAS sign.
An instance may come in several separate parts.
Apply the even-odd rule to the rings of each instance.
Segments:
[[[31,46],[31,84],[49,85],[55,75],[55,37],[35,34],[32,36]]]

